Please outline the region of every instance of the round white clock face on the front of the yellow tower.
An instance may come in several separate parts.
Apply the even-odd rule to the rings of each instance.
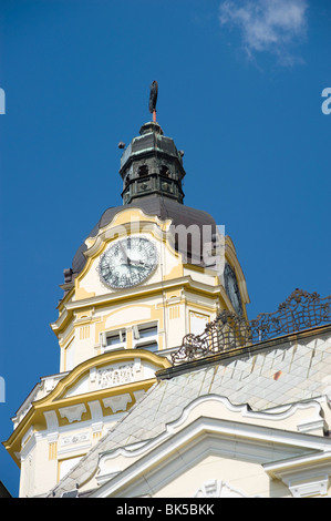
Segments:
[[[152,241],[131,236],[115,241],[102,255],[99,274],[112,288],[136,286],[152,275],[157,266],[157,252]]]

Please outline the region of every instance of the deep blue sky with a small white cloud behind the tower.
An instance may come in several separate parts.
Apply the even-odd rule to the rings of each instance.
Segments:
[[[117,143],[151,119],[153,80],[185,204],[235,242],[249,317],[331,293],[330,25],[330,0],[1,0],[1,441],[59,372],[63,269],[122,204]],[[0,480],[17,496],[2,446]]]

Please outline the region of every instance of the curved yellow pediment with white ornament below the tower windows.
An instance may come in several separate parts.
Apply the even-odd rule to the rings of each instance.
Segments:
[[[84,420],[102,420],[125,412],[156,381],[155,372],[169,361],[143,349],[124,349],[100,355],[76,366],[46,396],[31,401],[7,441],[14,456],[29,432],[54,432],[61,426]]]

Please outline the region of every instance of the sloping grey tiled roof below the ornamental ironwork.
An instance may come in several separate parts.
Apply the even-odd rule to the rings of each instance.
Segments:
[[[167,423],[180,417],[185,407],[204,395],[214,394],[228,398],[232,405],[248,403],[252,410],[266,410],[325,394],[331,382],[331,326],[316,328],[297,339],[281,339],[276,347],[269,343],[263,346],[158,380],[50,496],[62,496],[75,483],[83,483],[96,469],[99,453],[157,437]]]

